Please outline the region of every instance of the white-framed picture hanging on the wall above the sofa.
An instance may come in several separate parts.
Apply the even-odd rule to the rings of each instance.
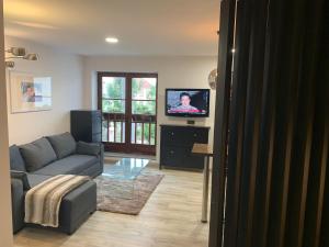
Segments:
[[[52,77],[10,71],[9,81],[12,113],[52,110]]]

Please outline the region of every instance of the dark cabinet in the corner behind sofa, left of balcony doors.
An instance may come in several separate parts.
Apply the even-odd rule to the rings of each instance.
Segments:
[[[77,142],[102,142],[102,114],[99,110],[71,111],[71,134]]]

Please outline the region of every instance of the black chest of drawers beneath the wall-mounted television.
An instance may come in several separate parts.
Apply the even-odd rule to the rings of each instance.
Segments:
[[[194,143],[208,143],[208,126],[161,124],[160,169],[183,168],[200,169],[204,167],[204,158],[194,156]]]

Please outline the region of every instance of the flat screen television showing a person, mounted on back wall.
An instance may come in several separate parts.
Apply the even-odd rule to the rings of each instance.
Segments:
[[[166,115],[209,116],[209,89],[166,89]]]

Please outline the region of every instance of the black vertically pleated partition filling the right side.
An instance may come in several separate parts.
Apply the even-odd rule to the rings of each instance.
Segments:
[[[329,246],[328,15],[222,1],[211,247]]]

